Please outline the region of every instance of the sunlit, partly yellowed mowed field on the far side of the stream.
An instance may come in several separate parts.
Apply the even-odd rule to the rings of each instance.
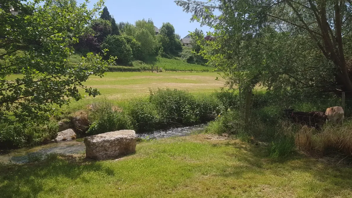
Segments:
[[[9,80],[21,78],[22,75],[12,75]],[[210,93],[224,86],[223,80],[218,73],[204,72],[106,72],[103,78],[90,76],[83,82],[88,87],[99,89],[101,95],[98,98],[106,98],[114,101],[126,101],[144,97],[150,88],[171,88],[188,90],[191,93]],[[83,89],[81,89],[84,95]],[[88,97],[89,99],[92,97]]]

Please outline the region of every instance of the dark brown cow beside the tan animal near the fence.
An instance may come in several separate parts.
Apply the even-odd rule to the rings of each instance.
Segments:
[[[326,123],[327,116],[321,111],[293,111],[293,109],[283,110],[287,118],[293,120],[295,123],[307,125],[317,130],[321,130],[321,127]]]

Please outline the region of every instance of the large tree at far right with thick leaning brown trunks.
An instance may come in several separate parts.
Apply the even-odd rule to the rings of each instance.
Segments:
[[[272,68],[266,64],[265,67],[261,67],[266,73],[274,74],[272,78],[265,78],[266,80],[270,79],[267,82],[269,87],[272,84],[278,85],[281,79],[287,79],[285,86],[281,87],[286,89],[290,87],[291,90],[299,88],[324,92],[345,91],[348,97],[352,97],[350,77],[352,71],[348,69],[352,49],[352,43],[349,40],[352,36],[350,31],[352,24],[351,1],[210,0],[202,2],[177,0],[176,4],[182,6],[186,12],[193,13],[191,20],[198,20],[202,25],[215,27],[219,31],[233,30],[234,33],[240,35],[241,29],[237,27],[237,22],[232,20],[237,17],[237,14],[243,17],[243,21],[249,27],[255,27],[257,32],[253,31],[252,35],[245,33],[241,36],[247,36],[247,39],[250,36],[256,36],[255,40],[258,44],[264,41],[260,43],[259,49],[256,49],[254,45],[252,48],[256,49],[257,52],[265,52],[267,58],[263,61],[276,61],[275,65],[281,65],[280,68]],[[246,7],[240,6],[241,4],[246,5]],[[238,5],[245,10],[239,10],[235,7]],[[220,11],[219,16],[215,16],[215,10]],[[227,12],[228,10],[234,12]],[[260,33],[266,35],[260,37]],[[278,53],[282,56],[277,58],[277,55],[272,56],[271,51],[280,48],[272,43],[272,41],[279,42],[277,40],[279,37],[285,39],[286,42],[283,44],[288,49],[292,48],[287,46],[287,43],[294,47],[297,47],[297,43],[301,45],[294,50],[290,50],[290,52],[285,48],[284,52],[286,53]],[[218,41],[219,38],[216,37],[216,42],[220,42]],[[224,40],[223,42],[230,42],[230,40]],[[245,42],[246,39],[243,39],[240,43]],[[310,54],[310,56],[307,56],[307,54]],[[293,57],[293,55],[295,56]],[[283,62],[280,61],[286,60],[285,57],[292,58],[289,62],[290,68],[285,67]],[[302,60],[301,57],[304,57],[305,60]],[[282,68],[285,68],[285,70]],[[299,69],[296,70],[296,68]],[[309,72],[307,73],[307,71]],[[322,80],[320,76],[326,73],[328,74],[325,76],[326,80]],[[333,75],[333,78],[329,73]]]

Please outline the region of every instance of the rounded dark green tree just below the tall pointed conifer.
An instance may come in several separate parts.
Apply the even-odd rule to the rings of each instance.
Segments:
[[[109,35],[101,45],[102,49],[108,49],[107,57],[117,57],[117,62],[126,64],[132,61],[133,52],[130,45],[122,36]]]

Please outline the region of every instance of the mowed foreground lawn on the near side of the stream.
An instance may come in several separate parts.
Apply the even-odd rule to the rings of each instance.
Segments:
[[[58,157],[0,166],[0,197],[352,197],[352,169],[300,156],[270,161],[267,149],[191,135],[143,142],[119,160]]]

